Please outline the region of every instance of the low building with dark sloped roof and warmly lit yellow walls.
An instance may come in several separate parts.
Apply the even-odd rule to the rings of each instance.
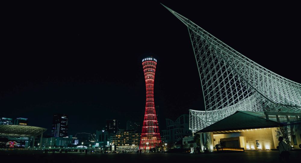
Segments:
[[[197,133],[203,140],[201,149],[212,151],[223,142],[224,149],[231,148],[227,150],[266,150],[277,149],[277,131],[284,129],[290,131],[290,148],[300,149],[300,116],[301,113],[237,111]]]

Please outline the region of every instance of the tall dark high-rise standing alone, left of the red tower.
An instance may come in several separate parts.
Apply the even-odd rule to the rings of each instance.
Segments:
[[[68,115],[54,114],[52,120],[51,136],[67,137],[68,134]]]

